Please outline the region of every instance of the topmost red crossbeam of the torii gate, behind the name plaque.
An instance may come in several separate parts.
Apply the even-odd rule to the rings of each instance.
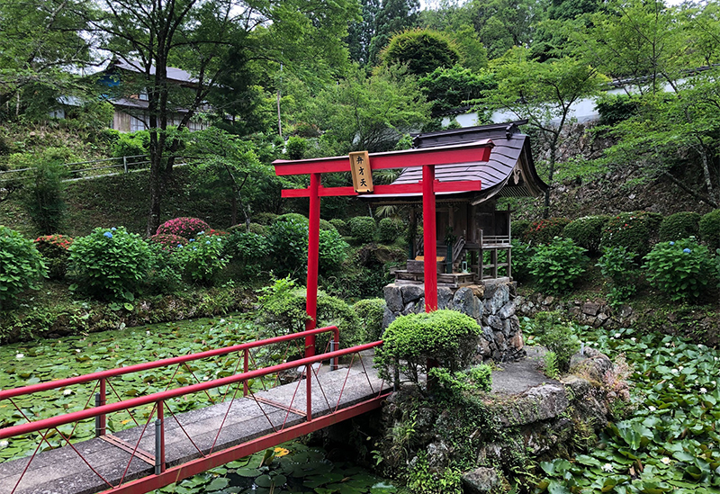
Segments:
[[[491,139],[482,139],[469,144],[442,148],[372,153],[370,155],[370,168],[372,170],[383,170],[388,168],[409,168],[411,166],[452,165],[455,163],[488,161],[493,146]],[[338,156],[294,161],[276,159],[273,165],[275,166],[275,174],[278,176],[338,173],[350,171],[350,158]]]

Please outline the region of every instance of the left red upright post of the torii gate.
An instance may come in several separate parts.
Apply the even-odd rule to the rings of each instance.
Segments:
[[[314,329],[318,315],[318,257],[320,255],[320,174],[310,175],[310,229],[308,232],[308,295],[310,319],[306,329]],[[305,338],[305,356],[315,355],[315,335]],[[310,377],[308,378],[310,379]]]

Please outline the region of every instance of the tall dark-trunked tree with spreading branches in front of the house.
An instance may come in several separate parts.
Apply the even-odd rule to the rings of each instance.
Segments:
[[[101,5],[101,15],[91,20],[92,30],[103,35],[101,48],[136,67],[148,95],[148,236],[160,223],[160,202],[183,144],[182,132],[170,130],[172,110],[186,110],[178,129],[186,128],[221,76],[237,69],[225,63],[232,53],[328,74],[346,56],[339,40],[357,14],[350,0],[102,0]],[[169,84],[172,66],[189,70],[192,84]]]

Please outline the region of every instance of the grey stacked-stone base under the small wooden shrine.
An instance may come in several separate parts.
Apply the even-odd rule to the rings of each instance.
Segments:
[[[460,288],[437,288],[438,309],[458,310],[478,321],[482,327],[478,360],[508,362],[526,355],[523,334],[515,315],[516,283],[510,278],[493,278]],[[395,318],[425,312],[425,286],[417,283],[391,283],[384,288],[383,329]]]

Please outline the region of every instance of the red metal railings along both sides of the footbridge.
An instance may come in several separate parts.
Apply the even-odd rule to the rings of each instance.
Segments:
[[[130,492],[130,493],[139,493],[139,492],[147,492],[148,490],[158,489],[160,487],[163,487],[165,485],[168,485],[170,483],[173,483],[175,481],[179,481],[181,479],[190,477],[194,474],[204,472],[205,470],[208,470],[210,468],[213,468],[215,466],[219,466],[224,463],[228,463],[229,461],[232,461],[233,459],[237,459],[239,457],[245,456],[247,454],[252,454],[257,451],[260,451],[266,447],[270,447],[272,445],[277,445],[279,443],[282,443],[284,441],[293,439],[294,437],[302,436],[303,434],[307,434],[313,430],[318,430],[322,427],[327,427],[330,424],[336,423],[340,420],[344,420],[345,418],[355,417],[356,415],[359,415],[360,413],[364,413],[365,411],[369,411],[370,409],[377,408],[376,403],[370,403],[370,401],[378,401],[382,400],[386,393],[383,394],[383,385],[381,384],[380,390],[375,393],[375,396],[364,403],[360,403],[359,405],[355,405],[352,407],[348,407],[347,409],[338,409],[340,398],[338,398],[338,405],[335,407],[334,410],[332,410],[331,406],[329,405],[330,414],[328,416],[322,417],[322,418],[316,418],[313,419],[312,417],[312,403],[311,403],[311,386],[312,386],[312,376],[315,375],[316,381],[320,382],[318,380],[318,376],[316,373],[313,372],[313,364],[318,364],[323,361],[330,361],[330,368],[331,369],[337,369],[338,368],[338,358],[344,355],[351,355],[351,354],[359,354],[359,352],[362,352],[367,349],[371,349],[377,346],[382,346],[382,341],[377,341],[374,343],[369,343],[361,346],[353,346],[350,348],[342,349],[342,350],[332,350],[320,355],[313,355],[309,357],[304,357],[298,360],[293,360],[291,362],[284,362],[283,364],[276,364],[272,365],[266,368],[262,369],[256,369],[256,370],[248,370],[248,364],[249,364],[249,350],[252,348],[256,348],[258,346],[268,346],[273,345],[276,343],[291,341],[295,339],[300,338],[306,338],[308,336],[314,336],[318,335],[320,333],[332,333],[332,340],[330,342],[331,348],[337,348],[339,345],[339,331],[337,327],[328,327],[328,328],[315,328],[311,330],[302,331],[300,333],[293,333],[290,335],[284,335],[281,337],[273,337],[268,338],[265,340],[259,340],[259,341],[253,341],[244,343],[241,345],[236,346],[229,346],[225,348],[219,348],[216,350],[209,350],[206,352],[202,352],[199,354],[193,354],[193,355],[184,355],[184,356],[178,356],[173,358],[166,358],[163,360],[158,360],[156,362],[150,362],[146,364],[135,364],[130,365],[127,367],[121,367],[118,369],[112,369],[108,371],[102,371],[97,373],[90,373],[85,374],[82,376],[62,379],[58,381],[52,381],[52,382],[43,382],[39,384],[33,384],[30,386],[23,386],[21,388],[15,388],[12,390],[4,390],[0,391],[0,400],[10,400],[15,409],[18,411],[21,411],[20,407],[18,407],[14,403],[14,398],[30,395],[33,393],[37,393],[40,391],[49,391],[54,390],[58,388],[64,388],[69,385],[74,384],[81,384],[86,382],[98,382],[98,384],[95,385],[95,389],[99,387],[100,391],[97,396],[99,398],[96,400],[96,406],[94,408],[89,409],[82,409],[74,412],[70,412],[64,415],[59,415],[56,417],[51,418],[42,418],[39,420],[34,421],[28,421],[27,423],[11,426],[11,427],[4,427],[0,429],[0,439],[6,439],[11,438],[14,436],[23,436],[28,435],[31,433],[40,432],[40,443],[35,448],[34,453],[31,455],[30,459],[28,460],[27,465],[24,468],[23,474],[21,475],[20,479],[17,481],[17,483],[14,486],[14,489],[12,492],[14,493],[15,490],[17,490],[18,485],[23,480],[23,475],[25,472],[28,471],[28,468],[31,465],[32,460],[35,458],[35,456],[38,454],[40,450],[40,445],[42,445],[43,442],[48,443],[47,436],[49,435],[49,432],[51,430],[57,431],[58,435],[67,443],[69,447],[72,447],[73,450],[81,457],[83,458],[83,455],[80,454],[76,448],[73,446],[73,444],[70,442],[70,439],[68,436],[72,436],[72,433],[69,435],[64,435],[62,432],[58,430],[58,427],[71,424],[71,423],[78,423],[79,421],[88,419],[88,418],[95,418],[95,435],[96,436],[104,436],[105,434],[105,417],[107,414],[118,412],[121,410],[130,410],[135,409],[137,407],[141,407],[144,405],[153,405],[152,410],[149,413],[148,421],[145,424],[145,426],[142,428],[142,433],[140,434],[140,437],[138,439],[138,442],[136,445],[134,445],[133,449],[128,449],[127,445],[125,445],[126,451],[131,453],[130,462],[128,463],[127,467],[125,468],[125,471],[122,474],[122,478],[119,483],[116,485],[113,485],[111,481],[108,481],[103,478],[103,476],[94,470],[94,468],[90,465],[90,463],[87,462],[85,458],[83,458],[83,461],[85,464],[92,470],[95,475],[97,475],[104,484],[107,485],[107,489],[103,490],[103,492]],[[157,369],[161,367],[167,367],[175,364],[186,364],[188,362],[191,362],[193,360],[199,360],[202,358],[212,357],[212,356],[219,356],[219,355],[228,355],[232,353],[242,353],[242,360],[243,360],[243,372],[238,373],[235,375],[230,375],[228,377],[223,377],[220,379],[214,379],[207,382],[196,382],[194,384],[182,386],[179,388],[175,388],[173,390],[166,390],[166,391],[159,391],[152,394],[148,394],[147,396],[142,396],[138,398],[132,398],[129,400],[120,400],[113,403],[106,403],[105,401],[105,393],[106,393],[106,382],[109,378],[121,376],[128,373],[138,373],[142,371],[148,371],[151,369]],[[239,356],[239,355],[238,355]],[[362,361],[361,361],[362,362]],[[352,366],[352,363],[350,364],[350,367]],[[301,381],[302,377],[305,377],[306,382],[306,412],[305,412],[305,419],[306,421],[300,425],[296,425],[293,427],[285,427],[285,423],[287,421],[287,417],[285,416],[285,422],[283,424],[283,427],[280,427],[279,430],[275,430],[275,426],[273,426],[272,421],[270,421],[271,427],[275,430],[275,434],[272,434],[270,436],[264,436],[260,437],[258,439],[255,439],[253,441],[249,441],[247,443],[237,445],[230,447],[229,449],[220,451],[220,452],[214,452],[212,449],[214,449],[215,444],[213,443],[211,450],[208,454],[203,453],[200,448],[197,447],[197,445],[193,446],[195,449],[197,449],[198,454],[200,454],[202,457],[198,458],[196,460],[190,461],[188,463],[183,463],[181,465],[177,465],[173,468],[166,468],[166,455],[165,455],[165,429],[164,429],[164,423],[165,423],[165,417],[164,412],[167,407],[166,401],[175,399],[178,397],[182,397],[185,395],[220,388],[223,386],[228,386],[228,391],[226,391],[226,395],[224,398],[227,398],[227,393],[229,392],[229,387],[232,384],[238,384],[238,388],[235,391],[235,395],[233,395],[232,400],[235,400],[236,395],[238,393],[239,389],[239,383],[243,384],[243,396],[247,396],[248,394],[252,395],[252,391],[249,391],[248,382],[250,380],[255,380],[257,378],[262,378],[264,376],[270,375],[270,374],[277,374],[282,373],[284,371],[301,368],[303,367],[304,370],[301,375]],[[348,375],[349,375],[350,368],[348,367]],[[176,372],[176,371],[175,371]],[[347,377],[346,377],[347,382]],[[368,380],[369,382],[369,380]],[[300,381],[298,382],[298,386],[300,385]],[[372,388],[372,384],[371,384]],[[342,391],[344,391],[345,386],[343,385],[343,390],[340,391],[340,395],[342,396]],[[295,391],[297,393],[297,390]],[[374,392],[374,390],[373,390]],[[324,395],[324,391],[323,391]],[[209,395],[208,395],[209,396]],[[340,397],[341,397],[340,396]],[[118,396],[119,398],[119,396]],[[257,399],[256,399],[257,400]],[[294,400],[294,395],[293,395]],[[326,397],[327,400],[327,397]],[[228,408],[228,412],[229,412]],[[172,413],[172,410],[168,408],[168,410]],[[288,411],[288,414],[290,411],[293,411],[292,409],[292,403],[290,407],[286,409]],[[21,413],[23,413],[21,411]],[[297,412],[294,412],[297,413]],[[151,421],[151,419],[157,416],[156,420],[156,427],[155,427],[155,439],[156,439],[156,447],[155,447],[155,475],[150,477],[141,478],[135,481],[125,481],[125,476],[130,468],[130,463],[132,462],[133,458],[136,456],[141,457],[142,453],[139,452],[139,442],[142,439],[146,429],[148,428],[148,425]],[[24,416],[23,416],[24,417]],[[174,414],[175,417],[175,414]],[[29,420],[29,418],[24,417],[25,419]],[[227,414],[226,414],[227,418]],[[176,420],[176,418],[175,418]],[[269,418],[268,418],[269,420]],[[137,422],[136,422],[137,423]],[[178,425],[180,423],[178,422]],[[224,424],[224,420],[223,420]],[[138,424],[139,426],[139,424]],[[222,426],[220,426],[221,429]],[[182,428],[182,426],[181,426]],[[46,431],[46,432],[42,432]],[[183,431],[184,432],[184,431]],[[187,433],[185,433],[187,436]],[[220,430],[218,430],[217,436],[215,438],[215,441],[217,441],[217,438],[220,436]],[[190,438],[190,436],[188,436]],[[190,438],[192,442],[192,438]],[[49,443],[48,443],[49,445]],[[145,459],[147,462],[147,458]]]

